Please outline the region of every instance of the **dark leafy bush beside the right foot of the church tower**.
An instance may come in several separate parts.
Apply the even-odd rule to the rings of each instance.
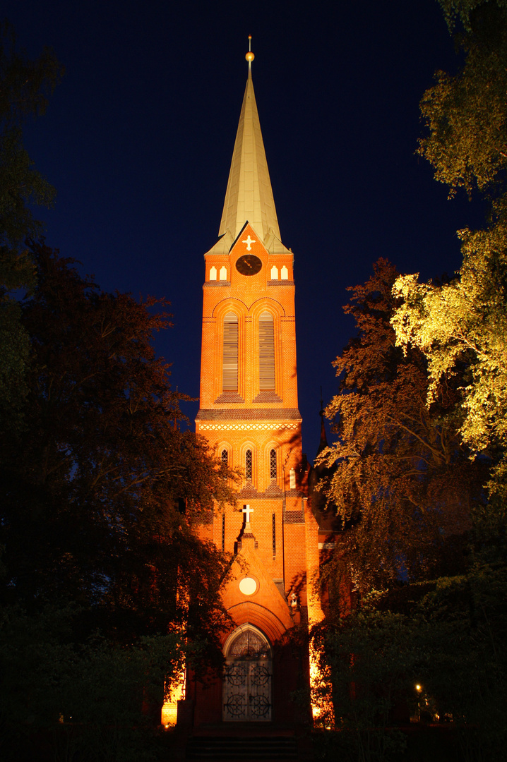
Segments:
[[[419,658],[414,629],[403,614],[371,606],[313,629],[321,674],[332,676],[333,715],[340,731],[326,759],[403,758],[406,737],[393,727],[393,710],[415,683]],[[317,696],[319,688],[326,686],[317,688]],[[332,719],[324,718],[329,728]]]

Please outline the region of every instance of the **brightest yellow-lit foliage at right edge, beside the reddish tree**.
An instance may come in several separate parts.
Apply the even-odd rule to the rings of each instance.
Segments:
[[[429,402],[441,379],[467,366],[461,424],[464,442],[475,453],[507,450],[507,230],[463,231],[464,262],[459,277],[435,286],[416,275],[400,277],[394,293],[403,297],[393,326],[400,345],[419,347],[428,357]],[[497,477],[505,466],[500,458]],[[496,482],[491,483],[496,491]]]

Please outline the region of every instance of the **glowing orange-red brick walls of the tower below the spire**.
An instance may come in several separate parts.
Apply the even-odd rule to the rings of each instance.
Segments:
[[[236,268],[248,246],[262,262],[253,275],[241,274]],[[290,692],[298,687],[302,674],[301,655],[294,656],[294,647],[287,645],[287,633],[294,624],[307,622],[308,512],[297,409],[293,258],[290,253],[270,255],[247,223],[229,255],[212,251],[205,261],[201,408],[196,431],[217,445],[219,456],[226,450],[229,465],[245,473],[239,489],[239,508],[248,504],[252,514],[247,532],[245,514],[226,507],[223,513],[215,512],[213,523],[202,527],[202,533],[225,552],[234,553],[236,549],[237,562],[223,590],[223,600],[236,626],[255,626],[271,645],[270,719],[287,722],[294,719],[295,711]],[[226,280],[210,281],[212,267],[217,273],[226,267]],[[271,278],[273,267],[279,275],[286,267],[287,279]],[[230,312],[238,321],[238,388],[227,392],[222,386],[223,318]],[[259,388],[259,316],[264,312],[272,315],[274,324],[272,390]],[[250,479],[245,464],[247,450],[252,453]],[[310,554],[313,559],[315,553],[318,555],[315,532],[312,540],[316,545]],[[255,580],[257,588],[253,593],[242,593],[242,578]],[[229,634],[224,635],[224,643]],[[303,661],[303,674],[307,674],[307,655]],[[187,695],[195,699],[194,723],[221,722],[221,681],[213,687],[197,684],[188,688]]]

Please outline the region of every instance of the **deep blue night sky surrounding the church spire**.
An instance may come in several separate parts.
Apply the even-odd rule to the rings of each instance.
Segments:
[[[47,243],[104,290],[166,296],[157,339],[172,383],[199,393],[203,255],[217,240],[248,34],[281,237],[294,251],[303,449],[319,387],[352,335],[342,305],[380,256],[428,279],[460,265],[455,232],[480,210],[448,201],[414,154],[419,100],[457,66],[436,0],[4,0],[30,56],[66,67],[25,143],[58,191]],[[473,216],[475,215],[475,219]],[[185,405],[193,421],[197,403]]]

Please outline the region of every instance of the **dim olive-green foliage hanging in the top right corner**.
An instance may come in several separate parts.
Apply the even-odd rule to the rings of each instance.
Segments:
[[[441,5],[448,11],[458,4]],[[464,188],[468,194],[479,190],[501,197],[507,167],[507,4],[476,0],[459,5],[468,31],[457,41],[466,61],[455,75],[437,72],[436,84],[423,95],[428,136],[419,139],[419,154],[451,196]]]

